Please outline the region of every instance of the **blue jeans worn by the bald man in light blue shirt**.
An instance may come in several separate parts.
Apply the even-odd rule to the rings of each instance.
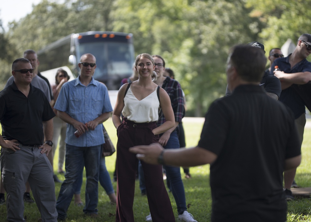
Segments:
[[[66,212],[77,189],[84,166],[86,170],[86,190],[83,212],[86,214],[97,213],[101,151],[101,145],[79,147],[66,144],[65,181],[62,183],[56,202],[59,220],[64,220],[67,216]]]

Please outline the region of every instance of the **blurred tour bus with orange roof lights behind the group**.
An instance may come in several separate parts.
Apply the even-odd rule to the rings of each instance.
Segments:
[[[95,80],[103,82],[108,90],[118,90],[123,78],[132,75],[135,60],[133,35],[112,31],[89,31],[73,33],[38,51],[39,71],[67,66],[74,76],[79,75],[81,55],[91,53],[96,57]],[[51,72],[47,76],[55,74]]]

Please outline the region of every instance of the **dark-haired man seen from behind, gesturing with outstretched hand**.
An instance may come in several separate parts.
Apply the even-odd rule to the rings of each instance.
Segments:
[[[130,148],[150,164],[211,164],[213,222],[286,221],[283,171],[300,164],[300,143],[292,111],[259,86],[266,61],[254,47],[232,49],[226,69],[232,95],[211,104],[196,147]]]

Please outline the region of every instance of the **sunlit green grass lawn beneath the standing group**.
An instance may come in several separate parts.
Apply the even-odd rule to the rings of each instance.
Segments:
[[[197,121],[185,121],[183,123],[187,147],[196,146],[202,130],[202,124]],[[111,118],[104,123],[104,126],[109,133],[114,145],[117,142],[116,130],[112,124]],[[299,186],[310,187],[311,173],[311,129],[306,128],[304,133],[304,142],[302,146],[303,160],[297,169],[295,177]],[[116,153],[106,157],[106,166],[112,178],[114,172]],[[54,160],[58,160],[58,150]],[[54,161],[54,171],[57,172],[57,161]],[[209,186],[209,165],[192,167],[190,173],[191,179],[184,178],[183,170],[182,178],[186,192],[186,203],[189,205],[188,211],[194,215],[195,219],[199,222],[208,222],[211,218],[211,189]],[[58,174],[58,178],[64,180],[63,175]],[[166,184],[165,184],[166,185]],[[58,197],[61,184],[55,184],[56,197]],[[116,191],[116,183],[113,183],[114,190]],[[85,202],[85,178],[81,189],[81,198]],[[176,210],[176,203],[172,193],[169,193],[169,198],[172,203],[175,218],[177,220],[178,214]],[[288,202],[288,216],[287,221],[311,221],[311,201],[309,198],[296,198],[295,201]],[[115,221],[115,205],[109,203],[109,197],[104,192],[104,189],[99,185],[99,201],[98,212],[99,217],[90,219],[85,217],[82,212],[82,207],[75,206],[73,201],[67,211],[67,221],[69,222],[84,222],[84,221],[100,221],[112,222]],[[149,214],[148,202],[146,196],[141,196],[139,190],[139,183],[136,181],[135,198],[134,198],[134,216],[135,221],[145,221],[146,215]],[[26,204],[24,216],[27,221],[33,222],[40,218],[39,210],[35,204]],[[0,206],[0,222],[6,221],[6,206]]]

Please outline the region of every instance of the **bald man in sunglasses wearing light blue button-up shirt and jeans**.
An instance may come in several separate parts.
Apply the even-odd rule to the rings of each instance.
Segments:
[[[105,142],[102,123],[112,111],[107,87],[92,77],[96,58],[90,53],[82,55],[79,67],[80,75],[63,85],[54,106],[58,117],[67,123],[66,174],[56,204],[58,220],[66,219],[84,166],[86,204],[83,212],[91,217],[97,216],[99,163],[101,145]],[[76,131],[79,137],[75,136]]]

